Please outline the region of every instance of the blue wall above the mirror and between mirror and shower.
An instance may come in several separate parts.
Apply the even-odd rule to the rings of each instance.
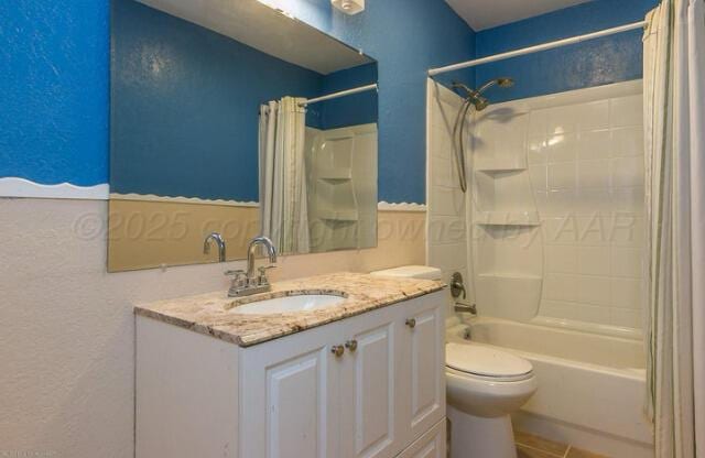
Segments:
[[[444,0],[370,0],[352,17],[329,0],[267,2],[379,62],[379,198],[424,203],[426,72],[473,58],[475,32]]]

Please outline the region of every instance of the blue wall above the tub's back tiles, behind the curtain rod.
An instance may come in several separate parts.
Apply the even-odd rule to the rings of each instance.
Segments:
[[[623,25],[644,19],[658,0],[594,0],[576,7],[481,31],[478,57]],[[506,101],[641,78],[641,31],[620,33],[563,48],[482,65],[476,86],[499,76],[514,78],[512,89],[491,89]]]

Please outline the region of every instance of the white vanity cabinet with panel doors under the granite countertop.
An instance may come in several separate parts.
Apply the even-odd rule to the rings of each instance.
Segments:
[[[435,437],[443,436],[438,428],[445,425],[445,292],[436,292],[252,347],[230,345],[238,349],[238,373],[237,380],[231,380],[228,395],[238,393],[238,403],[230,413],[237,418],[227,418],[226,423],[230,427],[237,425],[237,430],[230,430],[228,436],[223,427],[214,428],[213,437],[204,443],[210,444],[212,449],[213,444],[219,444],[216,447],[219,455],[202,456],[441,458],[433,450],[441,450],[436,447],[445,450],[444,438]],[[140,320],[149,318],[138,317],[138,355],[150,351],[141,348]],[[215,355],[202,355],[202,366],[203,360],[223,359],[224,351],[231,355],[224,349],[224,342],[212,340]],[[142,424],[140,400],[155,407],[169,402],[155,402],[153,397],[167,395],[163,390],[153,393],[140,390],[139,372],[149,368],[140,368],[138,356],[138,458],[166,456],[161,451],[140,455],[140,444],[186,440],[191,433]],[[205,366],[214,370],[216,364]],[[232,371],[215,372],[214,377],[232,378]],[[167,373],[161,377],[166,385],[174,383]],[[152,386],[156,386],[154,382]],[[208,422],[210,405],[223,411],[217,402],[223,385],[227,383],[213,385],[209,401],[200,404],[198,412],[189,413],[189,408],[197,408],[192,406],[186,411],[172,408],[169,413],[197,415],[202,422]],[[205,388],[194,389],[200,392]],[[187,396],[187,391],[183,390],[181,395]],[[142,408],[149,408],[148,404]],[[230,405],[235,408],[235,404]],[[415,455],[409,451],[424,437],[427,447],[419,448]],[[170,446],[169,450],[170,457],[193,457],[180,455],[178,447]]]

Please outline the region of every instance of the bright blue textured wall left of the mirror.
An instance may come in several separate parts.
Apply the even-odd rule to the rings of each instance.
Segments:
[[[108,2],[0,1],[0,177],[108,181]]]

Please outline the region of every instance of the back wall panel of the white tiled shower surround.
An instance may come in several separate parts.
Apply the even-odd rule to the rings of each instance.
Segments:
[[[541,276],[540,317],[640,328],[642,126],[640,80],[478,113],[474,258],[480,279],[488,266],[498,277]],[[488,214],[529,225],[478,225]],[[502,288],[502,281],[492,287]],[[485,308],[491,315],[491,306]]]

